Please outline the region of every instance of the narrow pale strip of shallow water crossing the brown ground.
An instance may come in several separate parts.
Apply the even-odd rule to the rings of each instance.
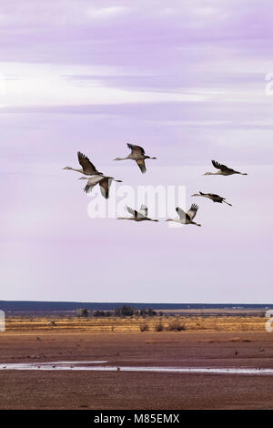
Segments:
[[[36,370],[36,371],[96,371],[96,372],[169,372],[169,373],[207,373],[207,374],[269,374],[273,369],[258,368],[208,368],[208,367],[141,367],[94,365],[106,361],[94,362],[23,362],[0,364],[0,370]],[[89,365],[90,364],[90,365]]]

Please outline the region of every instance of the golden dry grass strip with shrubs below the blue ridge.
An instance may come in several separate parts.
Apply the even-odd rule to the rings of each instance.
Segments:
[[[6,332],[11,331],[87,331],[87,332],[139,332],[139,331],[265,331],[265,317],[255,315],[221,316],[166,315],[162,317],[30,317],[7,318]]]

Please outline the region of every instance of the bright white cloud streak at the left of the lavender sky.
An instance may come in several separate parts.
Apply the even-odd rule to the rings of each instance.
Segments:
[[[108,87],[100,80],[67,79],[64,77],[71,66],[43,66],[35,64],[5,64],[9,76],[17,72],[17,77],[5,81],[2,95],[4,107],[48,107],[48,106],[83,106],[96,104],[123,103],[157,103],[157,102],[198,102],[207,99],[206,91],[202,94],[190,91],[148,91],[126,90]],[[106,69],[103,68],[106,73]],[[76,67],[78,71],[78,67]],[[91,70],[90,70],[91,71]],[[115,72],[114,72],[115,73]],[[97,73],[96,73],[97,74]],[[111,74],[111,68],[108,69]],[[5,75],[4,75],[5,76]]]

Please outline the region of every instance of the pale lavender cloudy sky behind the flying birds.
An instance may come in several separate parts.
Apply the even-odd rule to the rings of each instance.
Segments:
[[[1,1],[0,300],[273,303],[272,9]],[[126,143],[157,157],[146,174],[113,161]],[[78,150],[122,179],[107,202],[62,169]],[[211,159],[248,176],[204,176]],[[182,190],[166,217],[147,198],[158,223],[90,217],[139,186]],[[193,202],[202,227],[170,228]]]

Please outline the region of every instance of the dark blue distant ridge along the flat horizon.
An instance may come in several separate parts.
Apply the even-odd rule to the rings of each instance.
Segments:
[[[158,311],[187,309],[273,309],[273,304],[255,303],[137,303],[137,302],[80,302],[80,301],[0,301],[2,311],[112,311],[121,306],[134,306],[137,310],[151,308]]]

